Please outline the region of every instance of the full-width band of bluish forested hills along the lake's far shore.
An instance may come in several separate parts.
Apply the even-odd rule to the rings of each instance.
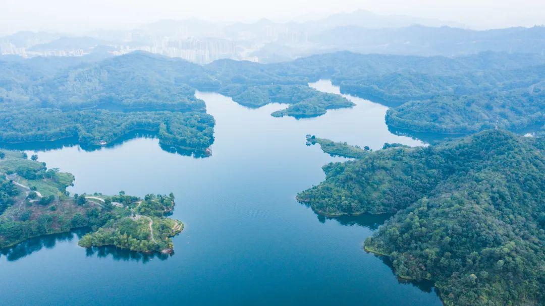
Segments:
[[[219,91],[248,107],[288,103],[272,114],[277,117],[313,117],[353,106],[340,95],[307,86],[319,78],[332,79],[343,93],[393,107],[386,115],[393,130],[465,134],[498,126],[535,131],[545,123],[544,67],[540,54],[493,52],[457,58],[337,52],[287,63],[218,60],[204,66],[145,52],[99,62],[0,62],[0,138],[27,142],[76,137],[96,145],[118,137],[100,132],[111,127],[103,124],[105,118],[113,118],[113,127],[123,131],[158,132],[160,120],[148,123],[142,118],[160,117],[154,113],[158,111],[204,113],[195,90]],[[123,119],[130,124],[120,125],[116,112],[130,117]],[[17,118],[26,127],[7,118]],[[180,140],[181,146],[198,143],[200,150],[211,144],[213,124],[187,127],[196,127],[191,135],[198,138]],[[178,133],[168,124],[166,130]],[[207,132],[201,138],[203,130]]]

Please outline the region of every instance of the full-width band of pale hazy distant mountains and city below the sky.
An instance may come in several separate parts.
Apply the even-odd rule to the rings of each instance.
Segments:
[[[286,23],[199,19],[161,20],[132,30],[100,30],[85,36],[19,32],[0,38],[2,55],[115,56],[147,51],[206,64],[230,58],[272,63],[348,50],[420,56],[458,56],[482,51],[545,52],[545,28],[471,30],[456,22],[366,10]]]

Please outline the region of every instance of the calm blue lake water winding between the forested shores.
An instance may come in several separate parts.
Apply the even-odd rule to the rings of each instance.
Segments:
[[[338,93],[329,81],[311,85]],[[362,249],[388,216],[332,219],[295,201],[324,179],[324,164],[344,160],[306,146],[307,133],[374,150],[422,145],[387,130],[386,107],[347,96],[355,107],[296,120],[270,116],[285,105],[250,109],[197,96],[216,118],[210,157],[161,150],[156,138],[37,151],[48,167],[76,176],[72,193],[173,192],[173,217],[185,223],[175,253],[86,250],[77,246],[81,231],[33,239],[0,255],[2,305],[441,305],[429,284],[400,283]]]

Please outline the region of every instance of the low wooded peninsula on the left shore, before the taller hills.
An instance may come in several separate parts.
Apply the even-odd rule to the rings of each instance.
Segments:
[[[168,146],[204,150],[214,142],[214,118],[197,112],[66,111],[35,108],[0,112],[0,142],[47,142],[77,138],[80,145],[111,143],[133,131],[157,133]]]

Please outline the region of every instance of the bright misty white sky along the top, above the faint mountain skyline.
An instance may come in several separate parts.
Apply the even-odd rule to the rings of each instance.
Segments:
[[[9,35],[21,31],[55,32],[69,35],[83,35],[100,30],[130,30],[149,23],[164,20],[183,21],[197,19],[220,25],[233,23],[255,23],[262,19],[276,23],[301,23],[324,19],[334,14],[350,14],[367,11],[383,17],[413,17],[441,21],[447,25],[475,30],[532,27],[545,24],[545,4],[536,1],[522,1],[516,5],[508,3],[472,4],[443,3],[433,5],[427,1],[392,5],[371,2],[352,3],[341,1],[335,4],[314,2],[313,5],[291,2],[275,2],[252,5],[240,0],[221,9],[218,3],[202,7],[199,4],[175,4],[169,1],[130,3],[118,1],[106,5],[79,3],[75,7],[70,2],[57,0],[58,10],[51,10],[53,4],[45,7],[39,2],[25,2],[23,7],[15,1],[7,1],[0,10],[0,35]],[[493,6],[494,5],[494,6]],[[166,8],[166,9],[164,9]]]

